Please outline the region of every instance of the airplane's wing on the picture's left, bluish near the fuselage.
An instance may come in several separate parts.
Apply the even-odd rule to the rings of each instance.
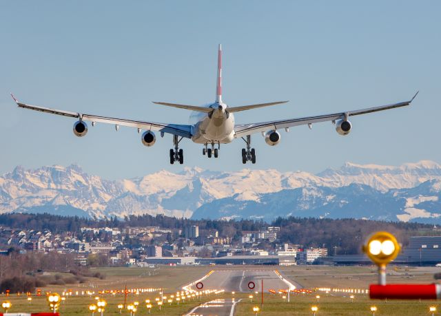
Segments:
[[[150,130],[161,131],[164,133],[178,135],[185,138],[192,138],[192,125],[164,124],[164,123],[146,122],[143,120],[127,120],[125,118],[110,118],[107,116],[81,114],[78,112],[70,112],[61,109],[51,109],[49,107],[40,107],[37,105],[28,105],[25,103],[20,103],[12,94],[11,96],[14,99],[15,103],[17,103],[17,105],[19,107],[22,107],[23,109],[33,109],[34,111],[78,118],[79,120],[87,120],[92,123],[99,122],[99,123],[107,123],[107,124],[121,125],[127,127],[136,127],[139,129],[145,129],[147,131]]]

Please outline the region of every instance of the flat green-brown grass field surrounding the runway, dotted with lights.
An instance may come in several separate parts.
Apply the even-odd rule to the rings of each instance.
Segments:
[[[376,283],[376,269],[369,266],[161,266],[160,268],[99,268],[96,271],[106,275],[105,280],[99,280],[94,277],[88,278],[87,282],[75,285],[57,285],[47,286],[44,291],[57,291],[62,293],[68,289],[76,291],[101,291],[123,289],[125,284],[127,288],[165,288],[165,295],[175,293],[181,286],[188,284],[205,275],[212,269],[278,269],[285,277],[300,283],[305,288],[368,288],[369,284]],[[389,283],[433,283],[433,273],[438,272],[437,268],[398,268],[388,269],[387,280]],[[242,301],[236,305],[235,315],[254,315],[253,306],[260,307],[260,293],[255,295],[254,302],[250,303],[248,293],[236,293],[235,299],[242,298]],[[317,303],[316,295],[320,295]],[[61,305],[61,315],[92,315],[88,310],[88,305],[95,302],[95,295],[83,295],[68,297],[65,304]],[[145,308],[145,299],[154,301],[158,293],[140,293],[140,295],[129,295],[127,303],[134,301],[140,302],[139,313],[136,315],[148,315]],[[104,315],[120,315],[116,307],[117,304],[124,302],[123,295],[102,295],[107,301],[107,308]],[[207,302],[216,296],[203,297],[201,302]],[[232,297],[231,293],[225,293],[222,297]],[[47,311],[48,306],[45,297],[32,297],[31,305],[28,304],[26,297],[17,297],[13,294],[10,297],[1,295],[0,299],[4,301],[9,299],[12,302],[11,313],[19,312],[37,312]],[[256,301],[257,299],[257,301]],[[316,315],[372,315],[370,306],[377,306],[376,315],[430,315],[429,306],[436,306],[437,302],[422,301],[373,301],[365,294],[355,294],[353,302],[347,293],[323,293],[317,292],[309,295],[293,294],[291,302],[287,303],[280,295],[264,296],[265,304],[259,315],[312,315],[311,306],[318,306]],[[172,306],[168,303],[158,310],[157,306],[152,308],[151,315],[185,315],[194,306],[200,304],[198,300],[186,300],[179,306],[174,302]],[[440,305],[441,308],[441,305]],[[129,315],[127,310],[123,315]],[[97,316],[97,313],[95,314]]]

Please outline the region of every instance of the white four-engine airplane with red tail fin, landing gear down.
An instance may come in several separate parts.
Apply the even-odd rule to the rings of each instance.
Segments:
[[[137,128],[139,134],[141,134],[141,131],[144,130],[141,136],[141,142],[147,147],[151,147],[154,145],[154,143],[156,143],[156,135],[154,134],[154,131],[158,131],[161,134],[161,137],[163,137],[164,134],[172,134],[174,148],[170,149],[170,164],[173,165],[174,162],[179,162],[182,165],[184,163],[184,154],[183,149],[179,149],[179,144],[183,138],[189,138],[194,143],[203,145],[203,155],[206,155],[208,158],[212,158],[212,156],[214,156],[214,158],[218,158],[220,144],[232,143],[234,139],[242,138],[245,141],[246,147],[242,149],[242,162],[243,164],[246,164],[248,161],[251,161],[254,164],[256,163],[256,150],[251,147],[252,134],[262,133],[262,135],[265,137],[265,142],[270,146],[275,146],[280,143],[281,135],[279,130],[281,129],[289,131],[289,127],[295,127],[298,125],[308,125],[308,127],[311,129],[314,123],[331,121],[334,125],[336,125],[337,133],[345,136],[349,134],[352,129],[352,124],[348,119],[349,116],[369,114],[383,111],[385,109],[394,109],[396,107],[404,107],[406,105],[410,105],[417,94],[418,92],[416,92],[410,101],[390,105],[356,109],[346,112],[336,112],[333,114],[308,116],[304,118],[289,118],[283,120],[272,120],[269,122],[236,125],[234,120],[234,113],[236,112],[283,104],[287,103],[288,101],[276,101],[271,103],[228,107],[227,104],[222,100],[222,47],[219,45],[216,101],[214,103],[209,103],[205,106],[196,106],[153,102],[157,105],[177,107],[179,109],[193,111],[190,118],[196,120],[194,125],[154,123],[145,120],[128,120],[125,118],[111,118],[107,116],[69,112],[61,109],[51,109],[49,107],[40,107],[37,105],[20,103],[13,94],[11,94],[11,96],[15,103],[24,109],[32,109],[34,111],[77,118],[78,121],[74,123],[73,131],[78,137],[83,137],[88,133],[88,125],[85,123],[85,121],[92,122],[92,126],[95,126],[96,123],[112,124],[115,125],[116,131],[118,131],[120,126]]]

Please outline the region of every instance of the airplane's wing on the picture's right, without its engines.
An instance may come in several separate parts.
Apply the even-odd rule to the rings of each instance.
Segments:
[[[325,122],[329,120],[339,120],[347,118],[348,116],[355,116],[361,114],[368,114],[378,111],[384,111],[385,109],[395,109],[396,107],[404,107],[406,105],[410,105],[413,99],[416,97],[418,92],[411,98],[409,101],[404,101],[400,103],[394,103],[390,105],[382,105],[380,107],[368,107],[366,109],[356,109],[354,111],[340,112],[334,114],[326,114],[326,115],[318,115],[318,116],[309,116],[305,118],[291,118],[288,120],[273,120],[269,122],[262,123],[252,123],[252,124],[243,124],[236,125],[234,127],[234,137],[239,138],[247,135],[251,135],[254,133],[259,133],[262,131],[268,131],[271,129],[283,129],[288,127],[294,127],[298,125],[308,125],[313,123]]]

